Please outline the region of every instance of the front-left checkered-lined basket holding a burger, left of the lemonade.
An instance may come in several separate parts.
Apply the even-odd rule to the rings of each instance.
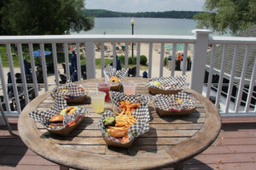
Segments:
[[[83,121],[86,109],[67,106],[60,94],[55,94],[55,104],[48,111],[32,111],[29,116],[40,122],[50,132],[67,136]]]

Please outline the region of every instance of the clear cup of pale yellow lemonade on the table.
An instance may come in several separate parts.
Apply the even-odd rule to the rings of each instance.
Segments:
[[[100,91],[90,94],[93,111],[95,111],[96,113],[102,113],[104,111],[105,95],[105,92]]]

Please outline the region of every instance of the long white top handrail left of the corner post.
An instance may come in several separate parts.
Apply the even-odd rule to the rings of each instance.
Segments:
[[[0,36],[0,43],[52,43],[52,42],[189,42],[195,36],[164,35],[56,35],[56,36]]]

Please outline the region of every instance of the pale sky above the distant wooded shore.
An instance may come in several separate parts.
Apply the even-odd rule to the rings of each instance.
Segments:
[[[118,12],[202,11],[205,0],[84,0],[85,8]]]

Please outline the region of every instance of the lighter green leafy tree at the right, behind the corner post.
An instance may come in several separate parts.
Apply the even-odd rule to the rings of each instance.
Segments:
[[[236,35],[256,24],[256,0],[206,0],[204,9],[194,16],[199,28]]]

